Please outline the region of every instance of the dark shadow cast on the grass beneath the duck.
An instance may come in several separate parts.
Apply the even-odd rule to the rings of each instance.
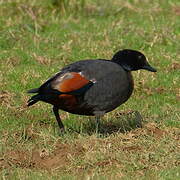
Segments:
[[[133,111],[129,113],[116,114],[115,117],[101,119],[101,124],[98,130],[99,134],[110,135],[116,132],[125,133],[132,129],[142,127],[143,118],[138,111]],[[81,122],[81,125],[76,127],[71,127],[67,125],[67,131],[77,132],[80,134],[92,135],[96,133],[96,121],[95,118],[89,118],[89,120]]]

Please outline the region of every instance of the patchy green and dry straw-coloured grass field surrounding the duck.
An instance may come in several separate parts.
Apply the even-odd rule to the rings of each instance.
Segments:
[[[179,15],[178,0],[2,0],[1,178],[179,179]],[[103,118],[98,137],[93,118],[61,112],[59,136],[50,105],[26,107],[26,91],[64,65],[123,48],[158,72],[133,72],[132,97]]]

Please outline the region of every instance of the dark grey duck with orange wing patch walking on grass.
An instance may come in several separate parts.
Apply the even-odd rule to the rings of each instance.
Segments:
[[[38,101],[53,105],[59,128],[64,125],[58,110],[95,116],[97,127],[100,116],[126,102],[133,92],[131,71],[146,69],[156,72],[146,57],[138,51],[124,49],[115,53],[111,60],[81,60],[64,67],[39,88],[28,101],[31,106]]]

